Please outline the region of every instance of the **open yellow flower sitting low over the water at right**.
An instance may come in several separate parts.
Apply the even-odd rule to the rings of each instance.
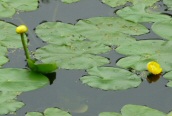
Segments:
[[[158,64],[155,61],[148,62],[147,69],[150,73],[154,75],[160,74],[162,72],[162,68],[160,64]]]

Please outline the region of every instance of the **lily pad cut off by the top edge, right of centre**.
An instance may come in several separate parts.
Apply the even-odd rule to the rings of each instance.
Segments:
[[[103,3],[111,6],[111,7],[117,7],[121,5],[125,5],[127,2],[132,2],[135,4],[145,4],[146,6],[152,6],[159,0],[102,0]]]

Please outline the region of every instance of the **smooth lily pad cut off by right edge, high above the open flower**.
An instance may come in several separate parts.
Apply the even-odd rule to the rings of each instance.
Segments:
[[[152,30],[162,38],[172,40],[172,22],[169,21],[162,21],[156,22],[152,25]]]

